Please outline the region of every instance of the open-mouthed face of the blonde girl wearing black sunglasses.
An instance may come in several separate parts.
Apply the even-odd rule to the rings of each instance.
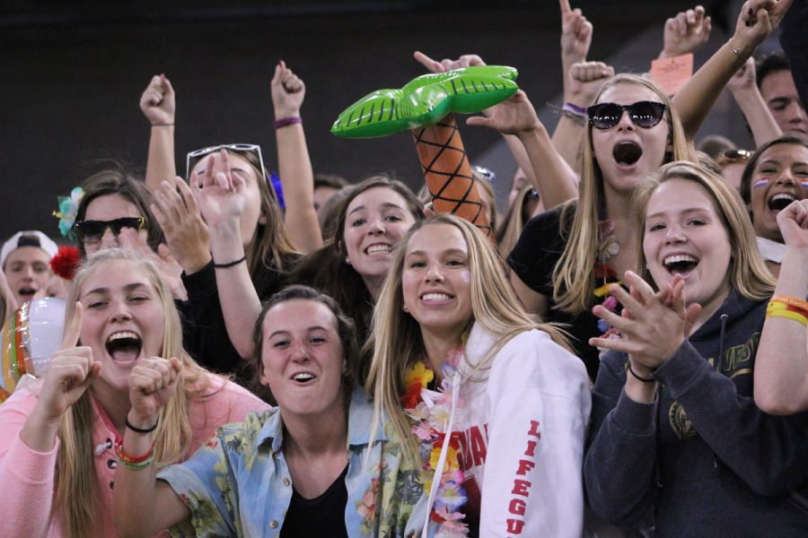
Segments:
[[[602,92],[598,103],[631,105],[638,101],[661,102],[654,91],[636,83],[618,83]],[[593,154],[601,169],[606,192],[628,192],[637,181],[663,164],[668,147],[669,112],[653,127],[632,123],[624,111],[618,125],[592,131]]]

